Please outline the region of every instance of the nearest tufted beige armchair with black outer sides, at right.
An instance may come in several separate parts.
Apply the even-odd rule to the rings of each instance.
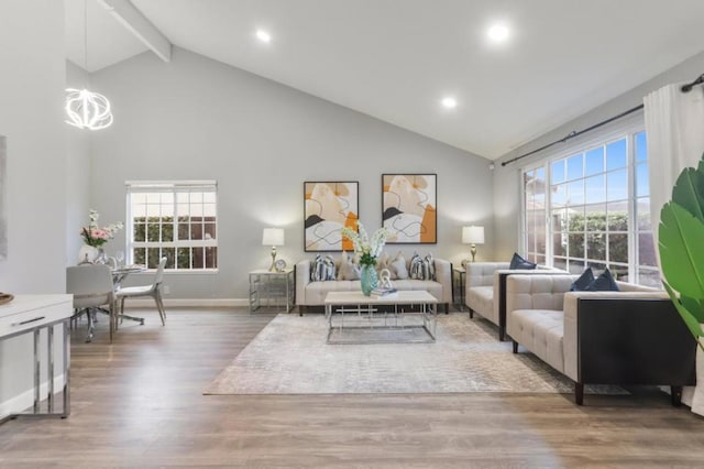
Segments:
[[[518,345],[584,384],[667,384],[678,405],[695,382],[696,343],[668,295],[617,282],[619,292],[570,292],[576,275],[510,275],[507,334]]]

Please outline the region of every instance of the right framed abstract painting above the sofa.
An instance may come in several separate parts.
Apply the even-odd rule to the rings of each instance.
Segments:
[[[382,174],[382,220],[392,244],[438,242],[438,175]]]

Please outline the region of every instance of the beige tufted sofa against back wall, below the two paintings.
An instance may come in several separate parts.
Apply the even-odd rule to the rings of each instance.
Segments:
[[[339,260],[336,260],[339,263]],[[394,287],[397,290],[425,290],[444,306],[448,313],[452,302],[452,268],[449,261],[435,259],[436,280],[394,280]],[[312,282],[310,280],[310,260],[302,260],[296,264],[296,304],[298,312],[302,314],[308,306],[323,306],[329,292],[351,292],[361,291],[359,280],[331,280],[324,282]],[[410,258],[406,262],[410,268]],[[339,265],[338,265],[339,268]]]

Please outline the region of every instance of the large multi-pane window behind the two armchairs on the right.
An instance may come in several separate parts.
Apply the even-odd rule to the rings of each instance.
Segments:
[[[573,273],[608,268],[619,280],[660,285],[645,131],[575,146],[525,168],[522,181],[531,261]]]

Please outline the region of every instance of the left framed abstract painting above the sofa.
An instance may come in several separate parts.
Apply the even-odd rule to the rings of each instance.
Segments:
[[[352,251],[342,228],[358,228],[358,182],[304,183],[304,248],[309,251]]]

